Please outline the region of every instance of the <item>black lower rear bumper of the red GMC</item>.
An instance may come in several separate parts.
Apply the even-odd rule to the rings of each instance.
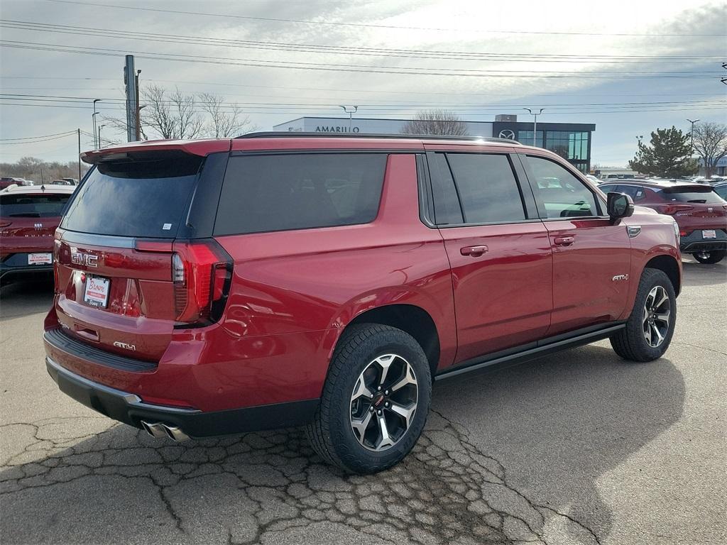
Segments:
[[[99,384],[46,358],[46,368],[61,392],[111,419],[141,428],[141,421],[178,427],[189,437],[216,437],[261,429],[294,427],[313,419],[318,400],[275,403],[227,411],[203,412],[144,403],[129,392]]]

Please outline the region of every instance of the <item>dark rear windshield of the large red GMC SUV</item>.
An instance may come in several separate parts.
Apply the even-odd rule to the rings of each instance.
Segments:
[[[100,163],[79,187],[61,227],[97,235],[174,238],[201,161],[167,153],[163,159]]]

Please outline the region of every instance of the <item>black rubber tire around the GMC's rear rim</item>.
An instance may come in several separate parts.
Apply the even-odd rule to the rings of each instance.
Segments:
[[[416,375],[416,411],[411,416],[409,427],[394,445],[386,450],[371,451],[359,442],[353,432],[351,397],[364,369],[369,368],[376,358],[388,354],[400,355]],[[313,422],[306,428],[308,440],[324,461],[347,472],[364,475],[382,471],[401,461],[417,443],[427,422],[431,397],[429,362],[424,350],[411,335],[401,329],[374,323],[350,326],[334,351],[321,403]],[[371,401],[369,405],[373,403]],[[372,410],[371,407],[369,410]]]

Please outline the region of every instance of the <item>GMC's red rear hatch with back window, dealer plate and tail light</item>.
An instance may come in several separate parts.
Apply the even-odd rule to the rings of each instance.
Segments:
[[[214,243],[177,240],[203,162],[181,152],[140,153],[89,173],[56,235],[63,334],[158,362],[174,327],[209,323],[216,267],[222,262],[224,283],[227,263]]]

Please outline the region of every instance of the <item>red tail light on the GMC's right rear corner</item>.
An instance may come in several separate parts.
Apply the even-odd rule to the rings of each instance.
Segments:
[[[174,316],[180,326],[206,326],[220,319],[232,270],[232,258],[211,239],[174,242]]]

